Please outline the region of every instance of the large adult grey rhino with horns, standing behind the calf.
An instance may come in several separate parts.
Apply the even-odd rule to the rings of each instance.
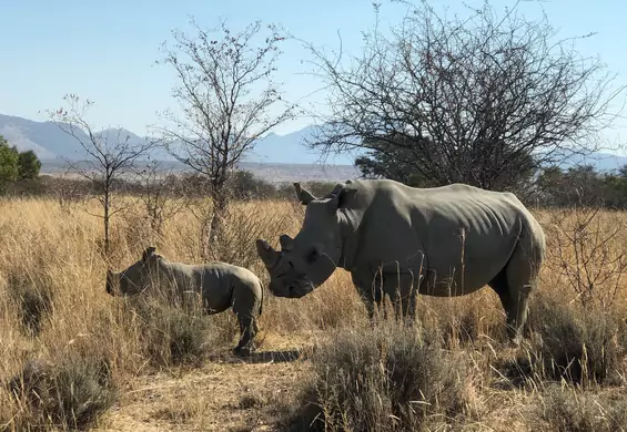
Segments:
[[[390,179],[347,181],[323,198],[294,187],[306,206],[296,237],[282,235],[280,251],[256,240],[275,296],[303,297],[341,267],[371,320],[387,295],[413,322],[416,292],[463,296],[488,285],[505,309],[510,340],[520,342],[546,246],[540,225],[514,194]]]

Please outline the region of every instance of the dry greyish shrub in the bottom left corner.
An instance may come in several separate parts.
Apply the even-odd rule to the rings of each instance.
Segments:
[[[84,429],[117,399],[107,359],[65,354],[54,362],[29,361],[7,385],[19,409],[7,430]]]

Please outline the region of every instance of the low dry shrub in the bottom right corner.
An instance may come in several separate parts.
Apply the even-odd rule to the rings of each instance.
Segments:
[[[627,429],[627,401],[579,391],[550,389],[544,397],[540,418],[556,432],[615,432]]]

